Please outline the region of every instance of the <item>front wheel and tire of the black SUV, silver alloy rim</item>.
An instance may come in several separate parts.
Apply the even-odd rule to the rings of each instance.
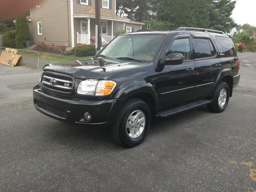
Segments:
[[[113,140],[124,147],[139,145],[151,126],[151,111],[140,99],[127,100],[112,126]]]

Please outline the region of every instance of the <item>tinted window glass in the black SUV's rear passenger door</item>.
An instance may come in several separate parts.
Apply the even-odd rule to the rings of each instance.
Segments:
[[[195,59],[211,57],[209,39],[194,38],[193,49],[195,52]]]

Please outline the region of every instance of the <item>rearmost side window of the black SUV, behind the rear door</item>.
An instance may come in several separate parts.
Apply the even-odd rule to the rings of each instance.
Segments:
[[[234,49],[234,44],[231,38],[229,37],[216,37],[216,38],[219,41],[225,56],[236,55],[236,50]]]

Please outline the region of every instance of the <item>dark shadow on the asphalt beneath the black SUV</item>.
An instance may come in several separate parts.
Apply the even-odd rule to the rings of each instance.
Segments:
[[[184,119],[193,123],[196,118],[210,114],[206,106],[202,106],[196,110],[157,120],[156,124],[151,126],[148,135],[152,138],[161,134],[161,132],[164,134],[164,132],[172,130],[173,127],[182,126],[181,124]],[[100,150],[101,148],[123,149],[123,147],[116,145],[112,141],[110,126],[84,126],[68,124],[53,119],[45,125],[45,127],[42,127],[42,129],[46,129],[45,139],[50,139],[50,142],[55,145],[69,146],[71,150],[73,148],[83,148],[86,150]]]

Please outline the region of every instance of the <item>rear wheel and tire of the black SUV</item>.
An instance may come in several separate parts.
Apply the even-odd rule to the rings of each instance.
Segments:
[[[227,108],[229,101],[229,86],[221,81],[212,97],[212,103],[208,104],[208,110],[215,113],[221,113]]]

